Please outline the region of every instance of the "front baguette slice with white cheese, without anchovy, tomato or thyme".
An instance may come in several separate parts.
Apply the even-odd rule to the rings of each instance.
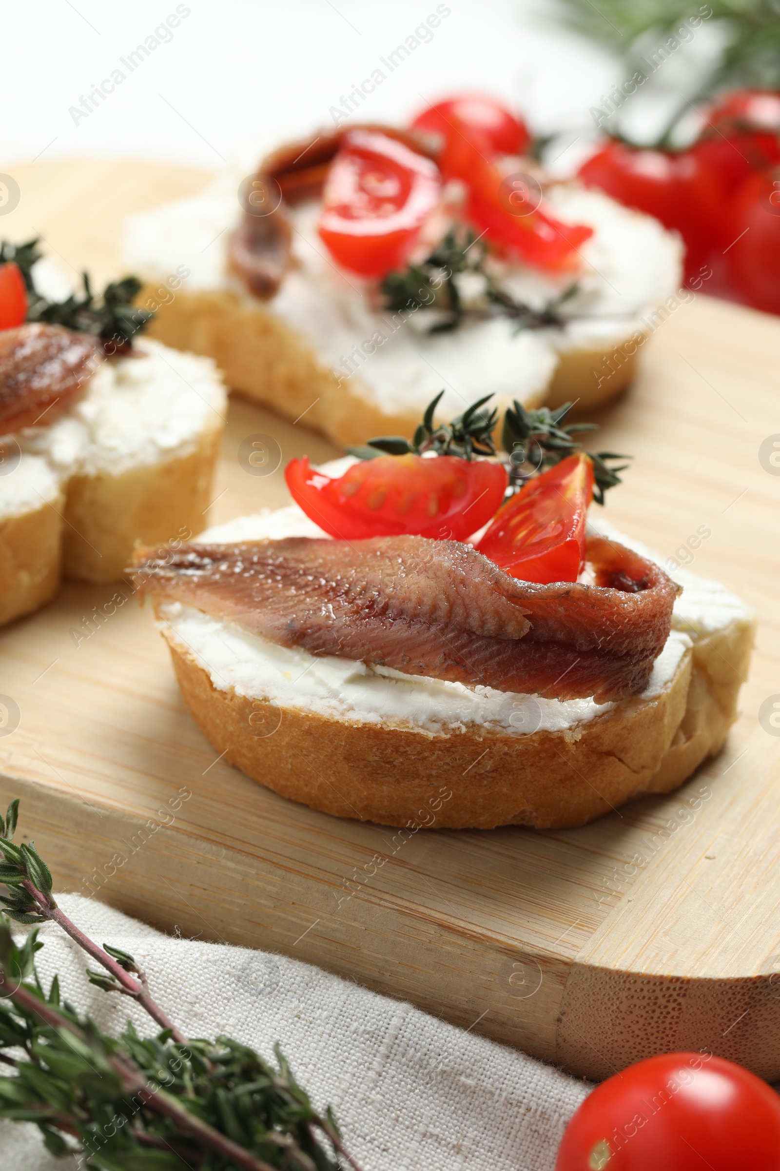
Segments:
[[[291,506],[203,539],[289,535],[325,534]],[[717,583],[679,578],[685,591],[647,690],[601,706],[313,658],[180,603],[156,610],[195,721],[261,785],[382,824],[424,817],[436,828],[543,829],[581,826],[630,797],[669,792],[722,747],[753,617]],[[439,810],[433,823],[426,802]]]

